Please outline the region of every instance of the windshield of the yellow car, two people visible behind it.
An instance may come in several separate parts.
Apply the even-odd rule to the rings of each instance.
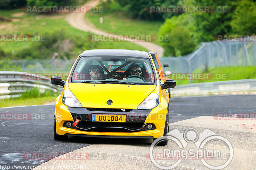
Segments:
[[[153,85],[156,76],[147,58],[86,56],[79,59],[71,78],[76,83]]]

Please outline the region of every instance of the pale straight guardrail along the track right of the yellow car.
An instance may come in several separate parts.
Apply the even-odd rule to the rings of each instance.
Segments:
[[[172,96],[211,95],[220,93],[256,92],[256,79],[228,80],[177,85]]]

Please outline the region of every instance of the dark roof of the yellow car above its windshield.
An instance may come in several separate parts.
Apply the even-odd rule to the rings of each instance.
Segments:
[[[131,56],[131,57],[143,57],[149,58],[148,52],[128,50],[128,49],[91,49],[84,51],[80,57],[83,56]]]

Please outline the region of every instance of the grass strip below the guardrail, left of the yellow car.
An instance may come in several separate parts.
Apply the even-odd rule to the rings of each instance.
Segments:
[[[12,98],[12,99],[1,99],[0,107],[10,107],[10,106],[23,106],[23,105],[43,105],[49,102],[53,102],[56,99],[56,96],[47,96],[39,98]]]

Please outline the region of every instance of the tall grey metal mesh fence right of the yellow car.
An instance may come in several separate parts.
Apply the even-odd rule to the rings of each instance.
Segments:
[[[192,73],[196,69],[255,65],[255,42],[203,42],[194,52],[181,57],[162,57],[172,73]]]

